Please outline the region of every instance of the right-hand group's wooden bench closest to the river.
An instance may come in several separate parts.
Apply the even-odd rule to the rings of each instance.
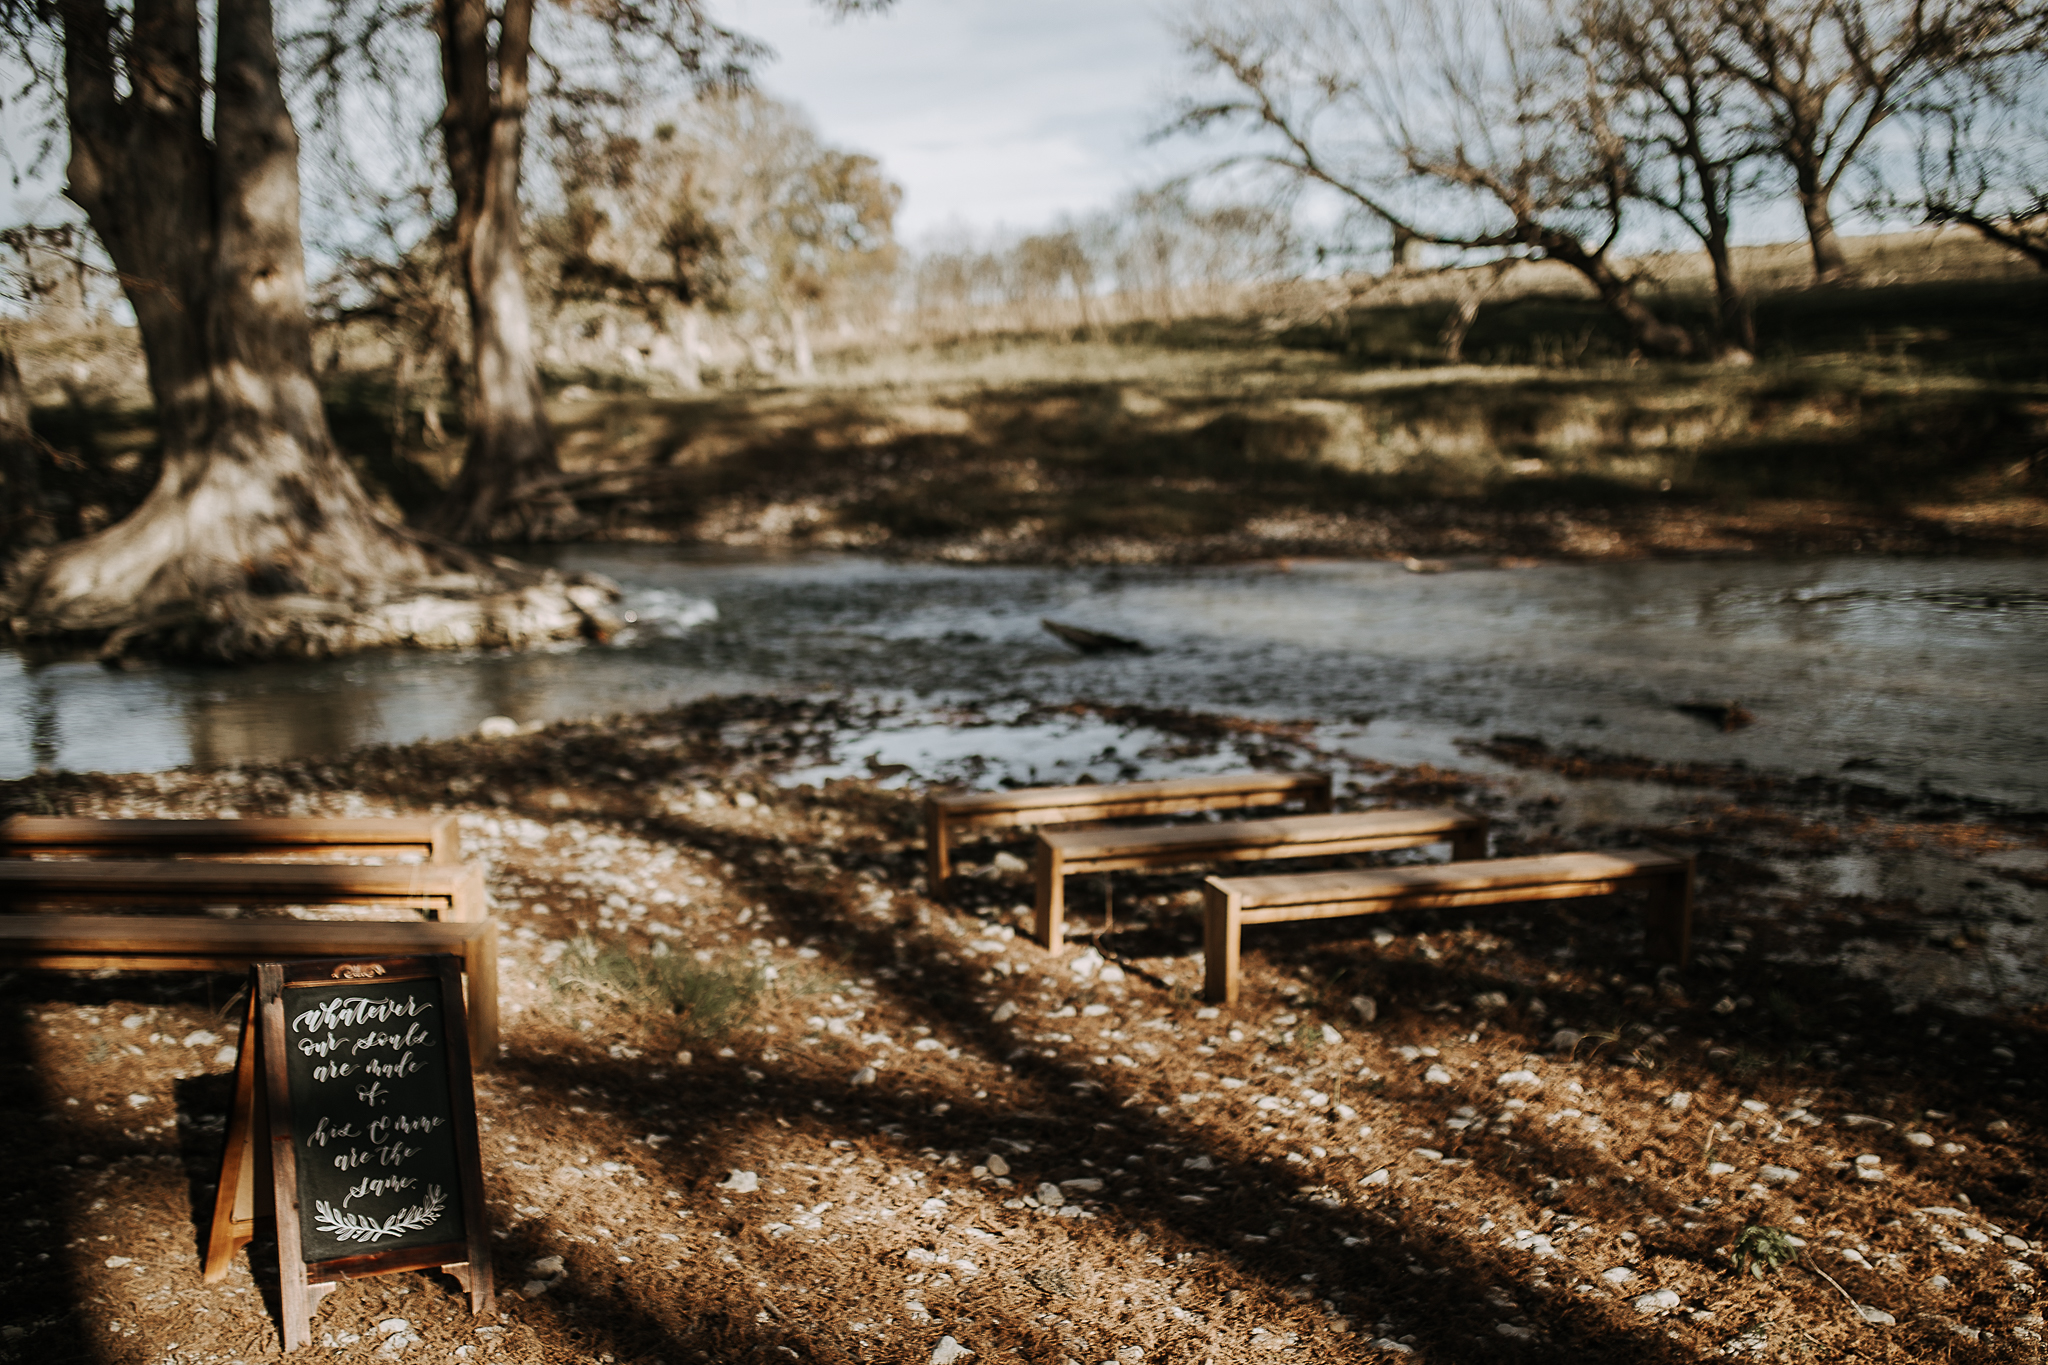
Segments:
[[[1227,774],[1223,778],[1167,778],[1163,782],[1106,782],[1096,786],[1026,786],[1012,792],[940,792],[924,798],[926,894],[940,896],[952,876],[954,829],[1014,829],[1018,825],[1069,825],[1118,821],[1139,814],[1188,810],[1243,810],[1284,806],[1329,810],[1329,774]]]

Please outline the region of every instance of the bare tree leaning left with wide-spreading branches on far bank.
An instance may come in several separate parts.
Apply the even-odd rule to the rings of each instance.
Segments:
[[[1233,127],[1257,164],[1335,192],[1397,241],[1571,266],[1649,356],[1692,356],[1612,256],[1640,147],[1620,92],[1538,0],[1229,0],[1182,29],[1223,86],[1180,131]]]

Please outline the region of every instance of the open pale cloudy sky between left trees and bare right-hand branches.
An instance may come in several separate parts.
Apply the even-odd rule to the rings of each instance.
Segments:
[[[1182,72],[1174,0],[897,0],[834,20],[813,0],[725,0],[768,41],[760,74],[903,186],[899,231],[1036,227],[1192,166],[1147,147]]]

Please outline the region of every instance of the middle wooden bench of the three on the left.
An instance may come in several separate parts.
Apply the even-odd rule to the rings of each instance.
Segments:
[[[213,864],[0,860],[0,909],[63,905],[377,905],[487,919],[471,864]]]

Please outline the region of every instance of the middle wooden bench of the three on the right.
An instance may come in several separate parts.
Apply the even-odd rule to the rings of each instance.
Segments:
[[[1171,868],[1200,862],[1323,857],[1450,843],[1452,857],[1487,855],[1487,821],[1458,808],[1288,814],[1274,821],[1167,825],[1157,829],[1049,829],[1038,835],[1032,931],[1059,952],[1067,919],[1067,878],[1081,872]]]

